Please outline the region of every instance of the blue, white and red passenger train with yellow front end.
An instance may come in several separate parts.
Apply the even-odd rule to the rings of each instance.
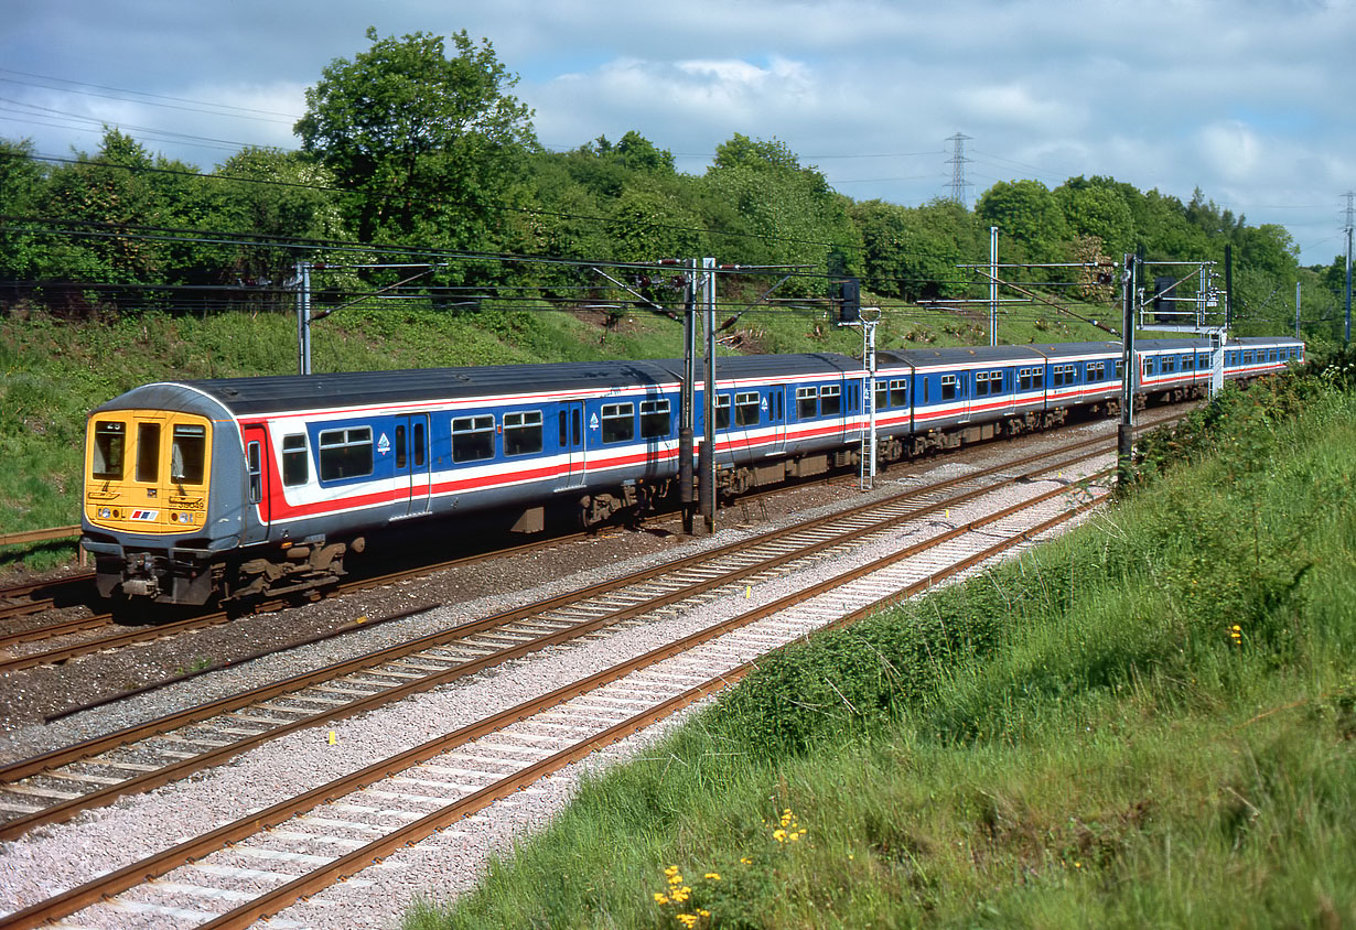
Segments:
[[[1218,346],[1223,376],[1303,361],[1298,339]],[[1204,339],[1140,340],[1136,392],[1207,393]],[[875,419],[881,462],[1120,409],[1119,342],[719,358],[721,498],[858,465]],[[540,531],[671,499],[681,359],[164,381],[88,418],[81,541],[102,598],[201,606],[319,597],[344,560],[399,527],[473,533],[494,514]],[[869,405],[868,405],[869,404]],[[875,409],[872,411],[871,407]],[[696,385],[696,446],[706,403]]]

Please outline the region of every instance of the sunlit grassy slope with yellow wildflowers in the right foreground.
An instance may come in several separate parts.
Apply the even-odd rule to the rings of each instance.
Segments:
[[[1349,361],[1229,390],[1018,563],[782,651],[407,926],[1352,926]]]

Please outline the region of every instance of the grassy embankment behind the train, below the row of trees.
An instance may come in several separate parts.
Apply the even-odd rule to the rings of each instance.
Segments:
[[[1090,310],[1089,310],[1090,312]],[[1054,312],[1051,312],[1054,313]],[[884,347],[983,342],[960,317],[942,324],[888,319]],[[822,317],[754,310],[740,319],[739,351],[860,354],[860,331]],[[1012,342],[1098,339],[1074,319],[1012,323]],[[293,374],[296,319],[245,313],[145,315],[114,323],[65,323],[42,315],[0,317],[0,534],[79,522],[85,415],[140,384],[170,378]],[[568,313],[523,310],[454,316],[351,308],[312,335],[312,370],[369,371],[509,362],[674,358],[679,323],[635,313],[603,328]],[[47,569],[69,560],[71,541],[0,546],[0,572]]]

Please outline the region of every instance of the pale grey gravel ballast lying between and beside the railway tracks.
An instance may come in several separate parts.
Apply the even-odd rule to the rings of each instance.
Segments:
[[[1024,454],[1047,445],[1054,447],[1079,439],[1090,431],[1113,434],[1115,424],[1096,422],[1064,430],[1058,435],[1032,437],[1021,443],[984,446],[972,450],[964,462],[960,457],[951,457],[914,464],[909,469],[879,477],[876,489],[865,493],[892,492],[900,483],[921,480],[919,474],[925,472],[928,480],[968,472],[991,464],[998,456]],[[833,503],[843,500],[857,503],[862,495],[864,492],[856,487],[812,485],[754,507],[765,510],[772,522],[782,522],[789,515],[804,518]],[[22,714],[16,714],[12,717],[14,728],[4,752],[7,758],[31,755],[53,746],[126,727],[136,720],[170,713],[216,695],[338,662],[388,643],[504,610],[548,594],[582,587],[643,565],[662,563],[679,552],[721,545],[754,529],[747,525],[731,525],[734,523],[731,518],[738,518],[739,514],[739,508],[727,511],[723,523],[728,529],[721,530],[715,538],[685,541],[663,533],[610,531],[583,544],[510,556],[494,560],[490,565],[452,569],[434,579],[403,583],[353,599],[346,598],[342,603],[319,605],[311,610],[347,620],[365,613],[382,615],[407,605],[438,598],[454,599],[449,606],[427,614],[363,630],[353,637],[228,668],[141,698],[81,713],[53,725],[34,725],[26,723]],[[956,519],[960,519],[960,514]],[[884,552],[891,546],[898,549],[898,545],[895,541],[866,546],[853,557],[853,561],[869,559],[875,550]],[[148,794],[122,798],[108,808],[85,812],[65,824],[39,828],[19,841],[0,845],[0,911],[24,907],[87,881],[98,873],[144,858],[182,838],[243,817],[287,796],[469,724],[492,709],[511,706],[549,691],[565,681],[574,681],[624,658],[645,652],[656,644],[660,633],[677,637],[694,632],[715,622],[716,617],[742,611],[750,603],[770,602],[789,592],[792,587],[803,587],[815,578],[827,578],[837,571],[842,571],[842,567],[822,565],[799,571],[795,579],[784,578],[754,584],[749,598],[740,592],[719,598],[681,615],[622,625],[580,645],[553,647],[471,679],[414,695],[391,708],[338,721],[331,727],[292,733],[212,771]],[[525,582],[533,579],[552,580],[523,587]],[[290,611],[271,617],[275,626],[290,628],[292,624],[301,622],[296,621]],[[264,622],[268,622],[268,618],[264,618]],[[243,628],[221,632],[228,637],[251,636],[244,633]],[[296,633],[286,639],[296,639]],[[259,643],[254,640],[247,651],[258,648]],[[89,659],[89,662],[68,663],[61,670],[49,670],[49,675],[71,676],[81,667],[91,671],[103,667],[98,662],[99,656]],[[126,662],[163,663],[164,655],[157,655],[155,659],[129,658]],[[19,672],[12,678],[19,679],[24,674]],[[119,672],[111,674],[115,678]],[[33,682],[33,678],[38,676],[30,676],[23,685],[18,681],[0,682],[0,693],[8,697],[15,691],[39,690],[41,682]],[[107,672],[94,672],[89,678],[96,681],[95,689],[107,687],[110,681]],[[38,706],[38,702],[30,700],[27,704],[30,713],[34,706]],[[445,831],[401,850],[382,868],[369,869],[358,880],[331,888],[313,896],[308,903],[289,908],[281,915],[281,921],[260,926],[275,929],[286,926],[283,921],[296,921],[301,926],[313,927],[396,927],[403,910],[416,896],[431,895],[446,899],[469,888],[484,872],[487,857],[510,849],[515,839],[548,823],[568,803],[584,773],[605,769],[618,759],[644,752],[654,740],[687,713],[690,710],[662,727],[651,728],[606,751],[595,752],[586,761],[541,780],[532,789],[487,808],[472,819],[473,830]],[[292,830],[293,824],[289,823],[285,828]],[[336,847],[335,854],[342,851],[346,850]],[[270,869],[259,861],[241,860],[239,865]],[[186,908],[205,908],[197,897],[176,897],[176,900]],[[119,926],[163,926],[156,922],[157,919],[156,915],[138,915],[130,911],[117,915]],[[100,925],[103,923],[100,919]]]

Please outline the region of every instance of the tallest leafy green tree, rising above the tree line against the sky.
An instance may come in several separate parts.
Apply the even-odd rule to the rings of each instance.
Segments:
[[[367,30],[372,49],[336,58],[306,91],[296,130],[340,184],[365,241],[490,251],[521,193],[532,110],[488,41]]]

